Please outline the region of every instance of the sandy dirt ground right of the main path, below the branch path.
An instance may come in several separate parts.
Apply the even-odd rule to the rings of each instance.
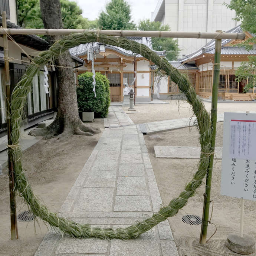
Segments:
[[[153,105],[153,104],[152,104]],[[230,104],[231,105],[231,104]],[[243,104],[242,104],[243,105]],[[239,105],[239,106],[242,106]],[[249,106],[249,105],[247,105]],[[135,115],[135,114],[134,114]],[[132,115],[130,115],[132,118]],[[223,122],[217,123],[216,146],[222,146]],[[178,132],[178,136],[177,136]],[[199,146],[198,131],[195,127],[174,131],[144,135],[163,203],[166,205],[183,190],[197,170],[198,160],[155,158],[154,145],[161,146]],[[229,233],[238,233],[240,229],[240,200],[220,195],[221,160],[214,161],[211,200],[214,201],[211,222],[217,226],[217,232],[206,245],[199,244],[201,225],[184,223],[181,218],[186,214],[202,217],[203,193],[205,183],[197,194],[189,198],[187,205],[175,217],[169,218],[174,240],[180,256],[217,256],[238,255],[226,247]],[[256,238],[256,203],[245,200],[244,233]],[[209,226],[208,237],[215,231]],[[256,255],[256,254],[254,254]]]

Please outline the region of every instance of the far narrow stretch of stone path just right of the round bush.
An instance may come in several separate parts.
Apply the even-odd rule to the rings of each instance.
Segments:
[[[119,107],[115,105],[109,106],[108,116],[104,118],[105,128],[114,128],[127,125],[133,125],[131,118]]]

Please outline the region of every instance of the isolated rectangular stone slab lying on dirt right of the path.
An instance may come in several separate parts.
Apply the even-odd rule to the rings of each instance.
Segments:
[[[154,146],[155,157],[200,158],[200,147]],[[214,158],[222,159],[222,147],[215,147]]]

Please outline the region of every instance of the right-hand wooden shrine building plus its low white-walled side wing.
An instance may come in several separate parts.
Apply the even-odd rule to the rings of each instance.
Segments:
[[[227,32],[239,33],[243,31],[240,26],[236,26]],[[249,32],[245,32],[245,34],[245,40],[252,38],[252,34]],[[244,92],[244,86],[248,83],[248,78],[238,82],[235,76],[236,69],[243,61],[248,61],[248,56],[256,56],[256,49],[247,51],[244,47],[238,45],[243,41],[222,39],[219,78],[220,100],[252,101],[256,98],[256,84],[254,88]],[[215,40],[213,39],[200,49],[184,56],[178,62],[170,62],[181,72],[188,75],[197,95],[207,99],[211,99],[214,51]],[[177,85],[168,81],[161,82],[161,85],[155,88],[158,98],[180,94]]]

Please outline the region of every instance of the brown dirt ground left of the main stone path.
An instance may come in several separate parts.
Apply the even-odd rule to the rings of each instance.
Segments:
[[[92,127],[103,131],[103,119],[95,119]],[[58,211],[91,155],[101,134],[93,136],[74,135],[66,141],[41,140],[23,152],[22,163],[26,176],[37,196],[51,211]],[[47,232],[42,221],[19,222],[19,240],[10,240],[10,201],[7,170],[0,176],[1,256],[34,255]],[[17,197],[17,214],[27,210]]]

